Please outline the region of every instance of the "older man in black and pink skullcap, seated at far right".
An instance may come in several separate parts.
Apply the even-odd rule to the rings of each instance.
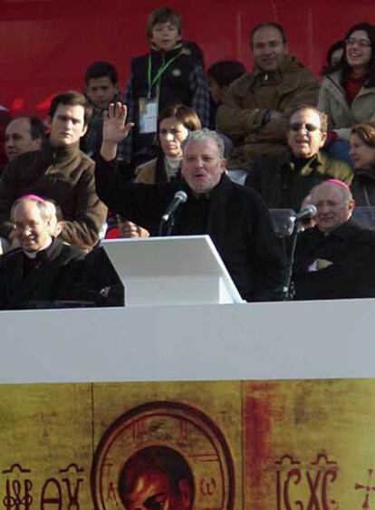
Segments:
[[[351,219],[350,189],[330,179],[311,196],[316,225],[297,241],[295,299],[375,297],[375,232]]]

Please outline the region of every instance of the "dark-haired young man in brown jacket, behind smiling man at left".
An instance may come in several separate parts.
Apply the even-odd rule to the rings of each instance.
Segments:
[[[14,200],[35,193],[63,210],[63,241],[90,249],[99,240],[106,207],[95,193],[94,162],[79,148],[90,106],[76,91],[63,92],[50,106],[51,134],[43,149],[10,161],[0,180],[0,234],[14,237],[9,210]]]

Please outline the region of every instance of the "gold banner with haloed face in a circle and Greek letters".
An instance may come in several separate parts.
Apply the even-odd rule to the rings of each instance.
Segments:
[[[0,423],[0,510],[375,510],[375,380],[5,384]]]

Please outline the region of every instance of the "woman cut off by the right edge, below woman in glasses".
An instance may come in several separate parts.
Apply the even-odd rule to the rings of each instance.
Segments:
[[[355,168],[351,193],[357,206],[375,206],[375,123],[351,130],[350,154]]]

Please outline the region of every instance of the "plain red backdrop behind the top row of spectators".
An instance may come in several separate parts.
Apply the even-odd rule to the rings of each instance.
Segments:
[[[45,115],[58,91],[81,90],[87,65],[113,63],[123,88],[132,56],[147,51],[145,23],[159,2],[129,0],[0,0],[0,104],[14,114]],[[186,39],[207,64],[225,58],[247,67],[249,29],[283,24],[291,53],[319,72],[327,47],[351,24],[375,22],[374,0],[176,0]]]

